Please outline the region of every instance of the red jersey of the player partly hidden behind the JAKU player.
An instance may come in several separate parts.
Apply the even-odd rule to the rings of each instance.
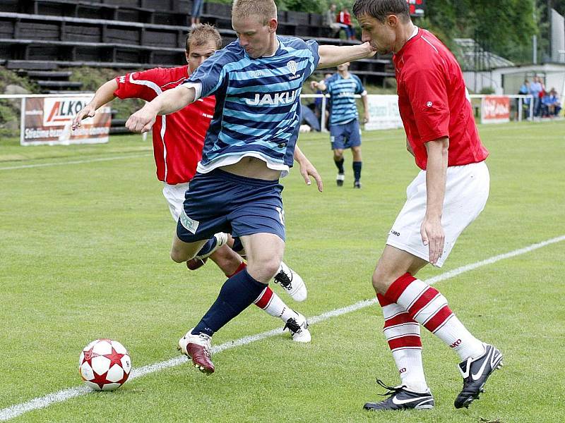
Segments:
[[[138,98],[148,102],[177,87],[189,76],[189,66],[155,68],[127,73],[116,78],[120,99]],[[157,178],[170,185],[189,182],[202,157],[204,137],[215,107],[215,97],[199,99],[173,114],[157,116],[153,125],[153,154]]]

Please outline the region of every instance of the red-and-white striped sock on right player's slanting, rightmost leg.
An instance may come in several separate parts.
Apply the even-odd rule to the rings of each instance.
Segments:
[[[436,288],[406,273],[392,283],[385,297],[403,307],[412,319],[456,350],[462,361],[484,353],[482,342],[463,326]]]

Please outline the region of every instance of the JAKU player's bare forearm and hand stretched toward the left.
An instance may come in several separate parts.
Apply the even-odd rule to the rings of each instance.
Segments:
[[[136,133],[145,133],[153,127],[159,114],[171,114],[194,102],[196,89],[179,85],[158,95],[136,113],[129,116],[126,128]]]

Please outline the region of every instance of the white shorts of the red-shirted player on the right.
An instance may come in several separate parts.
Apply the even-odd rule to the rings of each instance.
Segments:
[[[447,168],[446,194],[441,226],[444,252],[436,266],[441,267],[463,229],[477,219],[489,197],[490,176],[484,161]],[[406,203],[388,233],[387,245],[429,261],[429,246],[422,243],[420,227],[426,214],[426,171],[420,171],[406,188]]]

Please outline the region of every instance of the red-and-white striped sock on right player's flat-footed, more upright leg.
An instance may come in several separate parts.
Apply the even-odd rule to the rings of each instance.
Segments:
[[[426,392],[428,386],[422,364],[420,324],[396,302],[381,294],[377,294],[376,298],[383,310],[383,333],[391,348],[401,384],[410,391]]]

